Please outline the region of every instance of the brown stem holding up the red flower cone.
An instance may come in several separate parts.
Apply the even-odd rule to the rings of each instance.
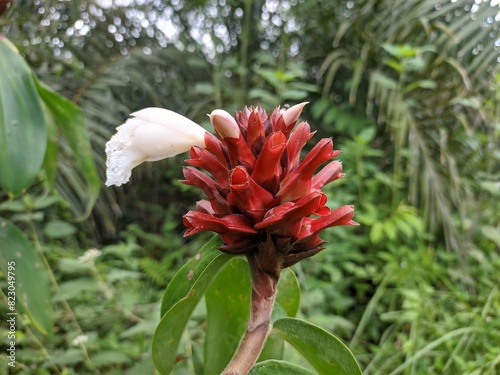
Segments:
[[[257,361],[271,325],[283,257],[272,241],[247,255],[252,275],[252,307],[247,330],[223,375],[246,375]]]

